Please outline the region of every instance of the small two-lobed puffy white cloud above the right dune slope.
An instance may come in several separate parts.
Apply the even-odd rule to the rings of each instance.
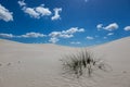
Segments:
[[[105,27],[103,27],[103,24],[99,24],[99,25],[96,26],[98,29],[105,29],[105,30],[109,30],[109,32],[115,30],[115,29],[117,29],[118,27],[119,27],[119,26],[118,26],[117,23],[112,23],[112,24],[109,24],[109,25],[107,25],[107,26],[105,26]]]

